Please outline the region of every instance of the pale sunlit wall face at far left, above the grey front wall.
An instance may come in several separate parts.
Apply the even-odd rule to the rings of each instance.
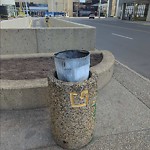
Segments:
[[[15,18],[12,20],[3,20],[0,22],[1,29],[19,29],[19,28],[30,28],[32,23],[31,17]]]

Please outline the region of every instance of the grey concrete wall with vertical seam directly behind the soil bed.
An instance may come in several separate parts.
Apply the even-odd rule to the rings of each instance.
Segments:
[[[69,22],[66,24],[69,26]],[[96,30],[78,24],[76,27],[74,24],[74,27],[2,29],[0,38],[1,55],[49,53],[66,49],[94,50]]]

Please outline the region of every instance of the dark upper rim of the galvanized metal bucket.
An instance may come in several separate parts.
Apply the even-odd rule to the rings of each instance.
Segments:
[[[60,53],[69,52],[69,51],[82,52],[82,53],[86,53],[87,55],[83,56],[83,57],[80,57],[80,58],[60,58],[60,57],[57,56]],[[57,52],[57,53],[54,54],[55,58],[57,58],[57,59],[82,59],[82,58],[87,57],[89,55],[90,55],[90,52],[86,51],[86,50],[64,50],[64,51],[60,51],[60,52]]]

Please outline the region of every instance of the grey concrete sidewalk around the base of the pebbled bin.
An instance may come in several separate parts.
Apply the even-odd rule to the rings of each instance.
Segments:
[[[150,81],[116,62],[98,92],[94,138],[82,150],[150,150]],[[48,108],[2,111],[1,150],[62,150],[51,136]]]

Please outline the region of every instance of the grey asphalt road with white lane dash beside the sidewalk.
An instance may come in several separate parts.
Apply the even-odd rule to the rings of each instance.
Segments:
[[[150,23],[143,25],[112,18],[67,20],[96,27],[96,48],[150,79]]]

